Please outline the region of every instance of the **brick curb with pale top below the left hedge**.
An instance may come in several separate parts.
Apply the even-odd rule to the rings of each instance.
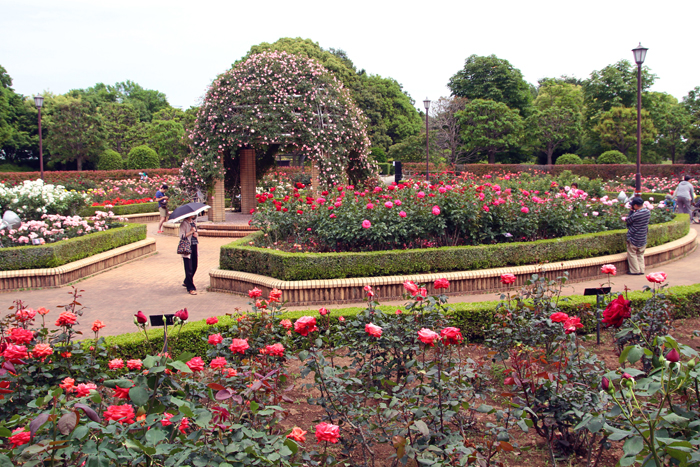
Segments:
[[[56,268],[0,271],[0,291],[61,287],[155,251],[155,239],[146,238]]]

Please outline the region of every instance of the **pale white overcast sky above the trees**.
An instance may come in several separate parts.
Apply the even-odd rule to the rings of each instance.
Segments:
[[[471,54],[536,83],[632,61],[641,41],[652,90],[681,100],[700,86],[698,13],[697,0],[0,0],[0,65],[25,95],[130,79],[187,108],[252,45],[302,37],[396,79],[422,108]]]

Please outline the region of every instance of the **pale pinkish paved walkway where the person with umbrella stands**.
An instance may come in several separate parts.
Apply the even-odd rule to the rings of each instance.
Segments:
[[[187,308],[190,319],[199,320],[214,315],[233,313],[236,309],[248,309],[248,298],[231,294],[207,292],[209,270],[219,265],[219,248],[232,241],[230,238],[200,238],[199,268],[195,276],[198,295],[187,294],[182,281],[185,273],[182,259],[175,253],[177,237],[157,234],[157,224],[148,224],[148,236],[156,239],[157,253],[146,258],[116,267],[76,284],[81,290],[80,303],[85,305],[84,316],[80,319],[78,329],[85,337],[92,335],[90,326],[96,319],[107,324],[103,335],[115,335],[136,331],[133,315],[141,310],[146,315],[174,313]],[[700,232],[700,226],[693,225]],[[671,285],[691,285],[700,282],[700,248],[683,259],[655,267],[654,271],[668,274]],[[647,271],[647,272],[652,272]],[[613,290],[623,290],[625,286],[632,290],[641,290],[647,281],[644,276],[616,276],[613,278]],[[586,287],[598,287],[601,280],[579,282],[567,286],[565,295],[580,295]],[[58,289],[25,290],[7,292],[0,295],[0,304],[12,305],[13,300],[23,300],[31,308],[46,307],[52,312],[47,315],[53,322],[64,305],[71,301],[70,286]],[[496,300],[497,295],[463,295],[450,297],[451,303],[478,302]],[[401,305],[403,301],[383,302],[387,305]],[[361,305],[361,304],[355,304]],[[328,308],[342,308],[352,304],[334,305]],[[316,307],[292,307],[290,309],[309,309]]]

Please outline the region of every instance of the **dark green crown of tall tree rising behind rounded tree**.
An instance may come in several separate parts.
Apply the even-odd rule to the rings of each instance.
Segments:
[[[453,96],[502,102],[527,115],[533,96],[517,68],[495,55],[471,55],[447,84]]]

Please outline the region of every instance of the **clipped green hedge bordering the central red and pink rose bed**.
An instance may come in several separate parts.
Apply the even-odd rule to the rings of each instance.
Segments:
[[[649,226],[649,247],[682,238],[687,214]],[[626,230],[535,242],[350,253],[288,253],[250,246],[256,232],[221,247],[219,267],[285,281],[471,271],[592,258],[626,251]]]

